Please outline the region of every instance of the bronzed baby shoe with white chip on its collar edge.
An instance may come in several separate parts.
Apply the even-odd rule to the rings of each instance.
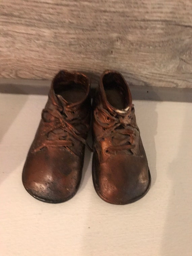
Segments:
[[[151,175],[132,96],[120,73],[103,73],[93,111],[95,190],[108,203],[132,203],[148,192]]]

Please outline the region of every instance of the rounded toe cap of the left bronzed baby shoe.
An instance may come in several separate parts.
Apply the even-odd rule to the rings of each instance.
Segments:
[[[75,195],[80,180],[81,167],[78,160],[70,161],[63,157],[62,161],[47,161],[44,155],[27,158],[22,175],[27,192],[49,203],[69,200]]]

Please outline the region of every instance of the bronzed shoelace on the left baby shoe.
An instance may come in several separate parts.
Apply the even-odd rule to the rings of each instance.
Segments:
[[[47,120],[44,116],[45,113],[48,113],[49,115],[51,115],[53,117],[53,120]],[[54,138],[53,139],[45,139],[44,141],[42,141],[40,143],[40,146],[37,147],[34,152],[37,152],[39,150],[41,150],[44,147],[66,147],[67,150],[69,150],[72,154],[74,154],[74,152],[72,150],[69,149],[69,147],[74,146],[73,141],[70,139],[70,136],[67,135],[71,135],[73,138],[81,141],[82,143],[84,143],[87,148],[92,151],[92,148],[88,145],[87,141],[80,137],[78,135],[78,131],[74,128],[74,124],[77,124],[77,122],[80,122],[79,120],[76,120],[76,123],[70,122],[72,120],[66,120],[66,118],[60,113],[59,110],[57,109],[50,109],[50,108],[46,108],[42,110],[42,119],[44,122],[46,122],[49,125],[45,126],[44,129],[44,135],[47,135],[50,132],[53,132],[54,130],[61,128],[63,129],[63,135],[61,134],[54,134]],[[65,138],[68,137],[68,139],[66,140]]]

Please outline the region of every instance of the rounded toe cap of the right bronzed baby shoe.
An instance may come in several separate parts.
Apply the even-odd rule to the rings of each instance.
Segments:
[[[140,162],[139,162],[140,161]],[[112,204],[128,204],[143,197],[151,185],[151,175],[147,162],[137,159],[119,159],[101,164],[94,171],[94,185],[98,195]]]

